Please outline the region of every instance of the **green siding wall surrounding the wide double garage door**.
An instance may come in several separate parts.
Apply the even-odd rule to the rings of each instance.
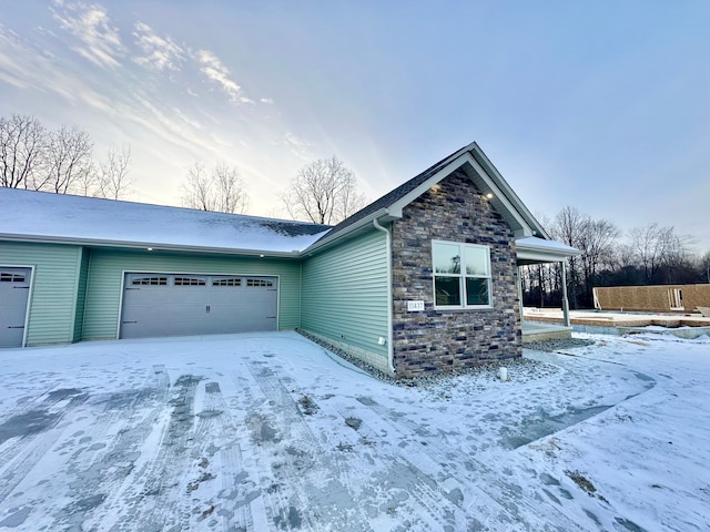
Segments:
[[[92,248],[83,318],[84,339],[116,337],[124,270],[277,275],[278,329],[294,329],[301,325],[301,266],[296,260]]]

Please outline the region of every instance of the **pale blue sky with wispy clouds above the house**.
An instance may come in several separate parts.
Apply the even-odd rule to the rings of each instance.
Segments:
[[[285,217],[316,158],[374,201],[476,141],[540,218],[710,250],[704,0],[0,6],[0,116],[130,146],[130,200],[180,205],[190,165],[225,163],[247,214]]]

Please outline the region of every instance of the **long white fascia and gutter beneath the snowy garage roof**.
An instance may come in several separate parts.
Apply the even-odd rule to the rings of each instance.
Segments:
[[[202,247],[202,246],[178,246],[172,244],[155,244],[151,242],[123,242],[123,241],[102,241],[102,239],[83,239],[72,237],[48,237],[41,235],[6,235],[0,234],[0,241],[7,242],[31,242],[37,244],[72,244],[77,246],[89,247],[118,247],[122,249],[144,249],[151,248],[154,252],[185,252],[185,253],[209,253],[215,255],[248,255],[274,257],[274,258],[298,258],[301,252],[273,252],[267,249],[234,249],[230,247]]]

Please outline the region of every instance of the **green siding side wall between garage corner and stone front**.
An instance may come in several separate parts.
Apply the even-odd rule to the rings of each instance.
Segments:
[[[383,360],[387,346],[387,244],[373,229],[303,263],[301,327]],[[372,362],[372,360],[367,360]],[[377,365],[382,366],[382,365]]]

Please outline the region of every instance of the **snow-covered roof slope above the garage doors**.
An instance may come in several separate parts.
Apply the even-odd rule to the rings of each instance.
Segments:
[[[0,188],[0,237],[12,239],[291,254],[328,229],[305,222]]]

